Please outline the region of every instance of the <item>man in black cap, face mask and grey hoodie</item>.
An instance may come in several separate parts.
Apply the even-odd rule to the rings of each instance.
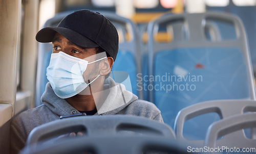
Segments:
[[[154,104],[138,100],[109,77],[118,52],[118,34],[103,15],[76,11],[57,28],[40,30],[36,40],[53,44],[47,68],[49,83],[41,97],[43,105],[12,120],[11,153],[25,146],[34,127],[60,116],[127,114],[163,122]]]

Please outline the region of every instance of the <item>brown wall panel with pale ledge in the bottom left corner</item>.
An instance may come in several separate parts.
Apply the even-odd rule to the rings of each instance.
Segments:
[[[10,143],[10,119],[12,118],[12,105],[0,104],[0,151],[1,153],[9,153]]]

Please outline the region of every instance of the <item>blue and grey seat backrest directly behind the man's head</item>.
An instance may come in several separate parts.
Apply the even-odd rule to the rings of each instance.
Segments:
[[[70,13],[72,12],[68,11],[56,14],[53,18],[47,20],[44,27],[56,27],[58,23]],[[137,90],[137,73],[141,72],[137,28],[130,19],[111,12],[102,12],[102,14],[115,25],[119,33],[119,40],[122,40],[122,42],[119,42],[119,52],[112,70],[126,71],[129,73],[132,83],[132,92],[142,98],[142,91]],[[41,105],[41,95],[44,93],[45,86],[49,82],[46,77],[46,68],[50,63],[51,53],[52,45],[50,43],[39,43],[36,76],[36,106]]]

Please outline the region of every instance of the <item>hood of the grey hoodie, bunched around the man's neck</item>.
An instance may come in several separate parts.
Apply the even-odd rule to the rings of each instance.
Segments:
[[[109,77],[105,80],[104,91],[108,92],[102,106],[97,106],[97,113],[95,115],[118,114],[121,110],[131,104],[131,102],[138,99],[132,92],[127,91],[123,84],[115,83]],[[41,100],[54,114],[58,116],[65,116],[79,113],[73,108],[65,99],[59,98],[53,91],[50,83],[47,83],[46,90],[42,94]]]

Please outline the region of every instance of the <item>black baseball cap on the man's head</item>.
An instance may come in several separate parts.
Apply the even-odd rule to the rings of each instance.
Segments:
[[[38,42],[52,42],[56,32],[82,47],[102,47],[115,61],[118,34],[105,16],[91,10],[75,11],[63,18],[57,27],[46,27],[36,34]]]

